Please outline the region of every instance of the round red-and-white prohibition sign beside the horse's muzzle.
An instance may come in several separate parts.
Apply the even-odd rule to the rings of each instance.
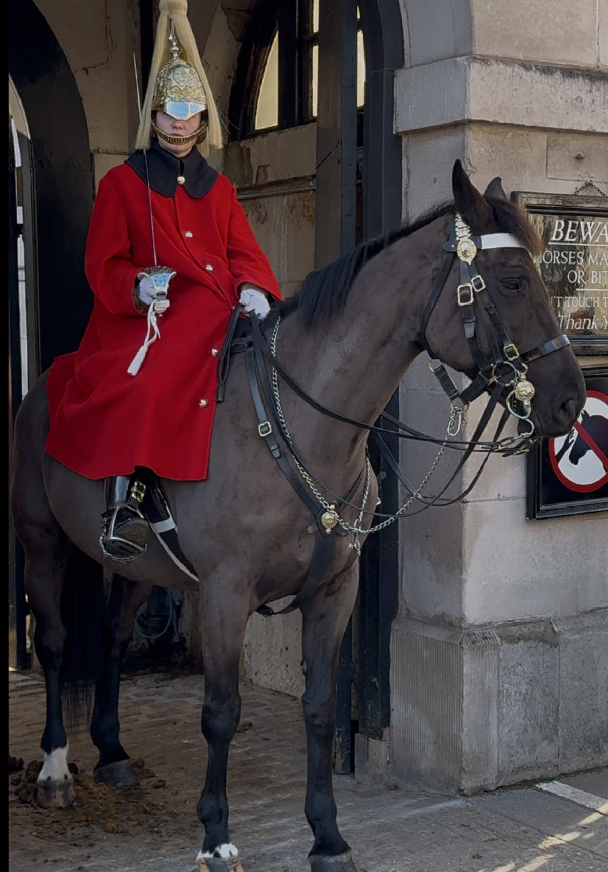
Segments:
[[[584,494],[608,482],[608,396],[588,392],[570,433],[549,440],[549,456],[553,472],[570,490]]]

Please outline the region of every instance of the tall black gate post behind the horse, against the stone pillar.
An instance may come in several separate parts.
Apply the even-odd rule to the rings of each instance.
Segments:
[[[320,3],[317,266],[401,222],[403,157],[401,141],[393,133],[394,73],[404,61],[400,4],[396,0],[359,2],[366,66],[361,144],[357,141],[361,125],[355,93],[356,10],[356,0]],[[388,411],[399,413],[396,393]],[[398,455],[399,440],[388,437],[386,442]],[[393,512],[398,501],[397,482],[393,475],[386,475],[383,462],[373,455],[372,465],[379,476],[383,511]],[[371,536],[361,557],[359,602],[340,654],[338,772],[352,772],[354,732],[369,739],[386,737],[390,721],[389,638],[398,602],[398,531],[393,525]],[[352,707],[353,687],[357,712]]]

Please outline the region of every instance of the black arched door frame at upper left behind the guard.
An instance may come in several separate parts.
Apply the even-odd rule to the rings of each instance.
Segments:
[[[92,308],[83,262],[93,176],[72,70],[33,0],[11,4],[9,74],[31,131],[40,370],[79,344]]]

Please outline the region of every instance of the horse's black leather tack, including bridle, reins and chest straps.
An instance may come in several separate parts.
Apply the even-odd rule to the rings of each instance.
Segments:
[[[290,482],[291,487],[293,487],[315,519],[315,523],[311,524],[308,528],[309,533],[315,534],[315,544],[312,551],[311,564],[301,589],[289,605],[285,606],[284,609],[279,612],[274,612],[267,603],[264,603],[258,609],[258,611],[263,615],[270,616],[274,614],[285,614],[301,607],[311,598],[315,590],[318,589],[318,586],[323,583],[327,566],[329,562],[331,562],[334,548],[338,542],[336,537],[332,536],[331,533],[337,533],[338,535],[344,536],[347,531],[356,529],[345,524],[345,522],[340,518],[339,513],[343,508],[349,507],[357,509],[359,512],[359,519],[362,519],[363,514],[365,513],[386,519],[386,522],[390,522],[397,520],[399,517],[409,517],[412,514],[417,514],[417,512],[424,511],[426,508],[433,505],[451,505],[454,502],[463,500],[470,490],[475,487],[475,484],[477,480],[479,480],[486,462],[488,461],[490,453],[498,451],[503,455],[509,455],[528,450],[532,441],[531,436],[534,432],[534,426],[529,419],[530,400],[534,395],[534,387],[526,378],[528,364],[531,360],[536,360],[536,358],[541,358],[543,355],[550,354],[552,351],[564,348],[564,346],[568,345],[569,342],[568,338],[562,335],[539,345],[535,349],[520,354],[516,345],[510,339],[509,333],[502,323],[502,318],[498,314],[494,303],[492,303],[486,283],[475,267],[475,254],[477,249],[499,248],[502,246],[521,247],[521,243],[517,242],[515,237],[507,234],[490,234],[474,237],[471,235],[468,226],[464,221],[462,221],[461,216],[456,213],[454,226],[449,239],[443,246],[446,251],[446,256],[441,266],[440,274],[434,283],[431,296],[428,299],[422,318],[420,332],[422,344],[432,358],[431,364],[429,365],[435,376],[439,379],[441,386],[450,400],[450,424],[452,424],[455,419],[458,420],[458,429],[455,429],[453,433],[450,433],[450,427],[448,425],[447,436],[444,439],[434,439],[433,437],[427,436],[425,433],[420,433],[412,427],[407,426],[399,419],[394,418],[393,415],[390,415],[387,412],[383,412],[380,417],[396,429],[388,428],[386,426],[366,424],[364,421],[347,418],[345,415],[334,412],[321,403],[318,403],[317,400],[313,399],[304,391],[304,388],[301,387],[301,385],[297,384],[297,381],[292,378],[290,373],[287,372],[283,365],[279,363],[274,353],[274,348],[271,349],[266,341],[262,327],[255,314],[251,313],[249,316],[251,323],[250,335],[243,336],[239,339],[234,338],[241,307],[237,306],[233,311],[233,317],[230,319],[228,335],[218,360],[217,401],[222,402],[224,397],[226,378],[228,378],[229,371],[230,351],[245,351],[249,390],[251,392],[251,398],[253,400],[258,420],[257,432],[268,446],[271,456],[277,461],[277,464],[282,473],[284,473],[285,478]],[[444,364],[434,358],[433,351],[430,349],[427,342],[428,320],[433,313],[434,306],[437,303],[441,291],[447,281],[447,275],[451,269],[452,263],[454,262],[454,255],[458,257],[461,269],[461,283],[458,285],[456,290],[457,303],[461,311],[461,320],[465,337],[467,338],[468,346],[478,370],[471,384],[461,392],[459,392],[454,385],[454,382],[448,375]],[[482,351],[482,347],[477,337],[477,318],[475,309],[479,306],[482,306],[482,309],[485,311],[489,324],[489,331],[487,331],[488,345],[491,352],[489,358]],[[267,319],[267,324],[265,326],[269,325],[268,323],[272,321],[272,318],[273,316],[270,316]],[[275,337],[277,335],[277,330],[278,317],[275,320]],[[406,491],[411,494],[412,499],[415,498],[423,504],[422,508],[419,508],[417,512],[409,512],[408,514],[378,512],[377,507],[373,509],[365,508],[369,476],[369,460],[367,460],[367,458],[365,459],[364,468],[359,473],[357,480],[355,480],[345,497],[333,494],[328,487],[323,486],[305,466],[304,460],[297,452],[297,448],[294,446],[293,441],[290,438],[290,433],[286,430],[284,419],[282,419],[282,414],[280,413],[277,394],[273,392],[272,385],[270,385],[270,379],[268,376],[269,367],[270,371],[275,371],[275,373],[280,375],[284,382],[286,382],[299,397],[304,399],[308,405],[311,405],[311,407],[316,409],[318,412],[322,412],[324,415],[328,415],[329,417],[342,421],[345,424],[367,430],[370,434],[370,438],[375,440],[379,452],[383,456],[388,467],[393,470],[393,473],[397,476],[398,480],[400,480],[400,483],[406,488]],[[509,388],[512,388],[512,390],[509,391]],[[471,400],[481,396],[481,394],[486,391],[490,392],[488,404],[482,413],[479,423],[475,427],[472,439],[468,442],[457,442],[453,438],[448,440],[448,436],[454,437],[454,435],[456,435],[460,430],[462,413],[465,411]],[[496,428],[494,438],[489,442],[484,442],[481,440],[482,434],[488,426],[492,412],[494,412],[495,407],[499,403],[504,392],[508,392],[505,400],[505,409],[502,413],[499,425]],[[277,405],[279,406],[278,408]],[[516,418],[528,422],[529,433],[524,433],[523,439],[517,437],[500,439],[502,429],[509,418],[509,414],[513,414]],[[445,487],[441,488],[439,494],[433,498],[424,497],[420,494],[421,488],[414,488],[406,479],[406,476],[400,470],[398,461],[394,458],[393,453],[391,453],[383,439],[383,436],[387,433],[390,433],[393,436],[398,436],[401,439],[434,442],[442,447],[448,446],[451,448],[459,448],[463,451],[461,460],[454,470],[454,473],[450,476]],[[280,435],[281,442],[277,439],[277,434]],[[468,487],[463,493],[454,499],[447,499],[444,497],[447,488],[450,487],[452,482],[461,472],[462,467],[470,457],[471,453],[479,450],[487,452],[487,456],[483,460],[478,472],[475,474],[475,477]],[[290,455],[291,462],[288,460],[286,455]],[[441,452],[438,454],[437,460],[440,455]],[[295,463],[297,469],[292,466],[292,463]],[[297,470],[299,470],[299,472]],[[325,494],[331,494],[331,498],[335,500],[335,503],[330,505],[326,500],[324,500],[324,498],[322,498],[322,502],[318,501],[318,499],[311,494],[311,491],[304,487],[304,481],[301,477],[302,473],[305,473],[309,487],[311,484],[314,485],[314,483],[318,485],[318,487],[313,487],[313,493],[317,494],[317,497],[322,497],[321,491],[319,490],[319,488],[322,488]],[[359,492],[359,487],[361,486],[362,480],[364,480],[364,473],[364,506],[361,507],[353,503],[352,499],[354,499]],[[384,524],[380,524],[379,526],[384,526]],[[355,541],[353,541],[349,547],[354,548],[357,553],[360,553],[359,532],[356,532],[355,536]]]

